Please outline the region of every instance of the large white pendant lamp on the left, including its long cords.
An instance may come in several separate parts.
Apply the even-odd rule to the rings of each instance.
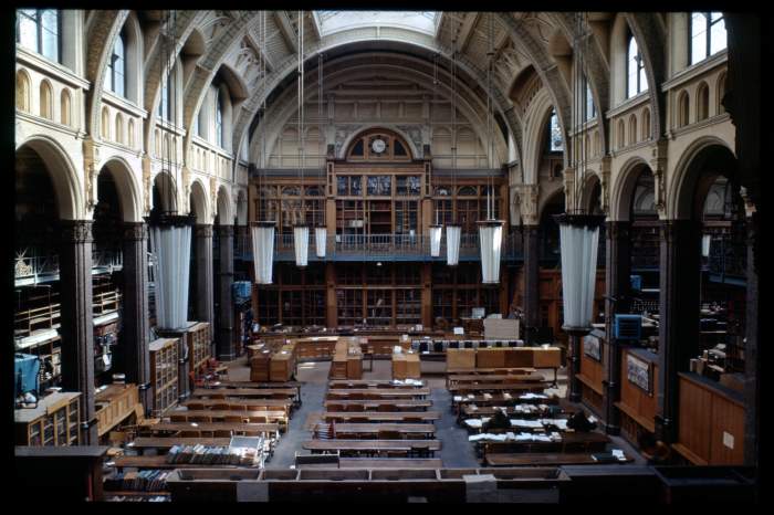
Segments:
[[[172,133],[172,124],[177,116],[177,88],[174,76],[175,52],[177,49],[176,34],[177,14],[167,11],[161,22],[161,84],[167,83],[167,98],[170,98],[168,107],[164,98],[159,98],[163,105],[161,124]],[[165,92],[161,91],[161,95]],[[167,119],[170,118],[170,119]],[[161,170],[166,170],[171,177],[179,169],[175,145],[167,145],[161,154]],[[190,272],[191,227],[192,213],[180,216],[172,210],[174,192],[171,180],[161,182],[161,196],[166,201],[151,211],[148,217],[150,249],[156,254],[156,319],[161,329],[176,330],[185,327],[188,320],[188,283]]]

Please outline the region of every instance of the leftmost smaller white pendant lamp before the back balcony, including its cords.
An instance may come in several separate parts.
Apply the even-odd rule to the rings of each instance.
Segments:
[[[266,44],[266,11],[261,11],[261,38],[263,48]],[[262,97],[262,112],[261,120],[259,125],[260,138],[261,138],[261,168],[265,168],[266,164],[266,127],[265,127],[265,114],[266,114],[266,62],[261,59],[261,97]],[[272,283],[272,269],[274,264],[274,220],[268,220],[268,203],[265,199],[262,199],[263,185],[262,185],[262,170],[258,172],[258,204],[263,206],[263,209],[259,209],[258,216],[264,216],[264,220],[253,222],[250,224],[250,235],[252,239],[252,259],[253,259],[253,271],[255,273],[255,283],[258,284],[271,284]],[[263,211],[263,213],[261,213]]]

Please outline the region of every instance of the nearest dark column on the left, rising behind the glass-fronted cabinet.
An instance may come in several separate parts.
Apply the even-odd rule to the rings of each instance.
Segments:
[[[92,221],[62,220],[60,223],[62,386],[65,391],[81,392],[81,442],[96,445]]]

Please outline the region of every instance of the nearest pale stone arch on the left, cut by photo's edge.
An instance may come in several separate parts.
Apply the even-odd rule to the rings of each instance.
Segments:
[[[83,187],[79,174],[64,148],[48,136],[32,136],[21,141],[15,151],[29,147],[43,159],[56,195],[56,206],[61,220],[83,220],[85,218]]]

